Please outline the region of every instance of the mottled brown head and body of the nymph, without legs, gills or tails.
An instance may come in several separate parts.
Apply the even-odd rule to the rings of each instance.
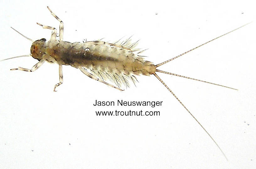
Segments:
[[[42,39],[32,44],[31,55],[37,60],[44,59],[59,65],[125,75],[150,75],[156,71],[152,62],[132,53],[131,49],[104,41],[70,43],[58,40],[46,42]]]

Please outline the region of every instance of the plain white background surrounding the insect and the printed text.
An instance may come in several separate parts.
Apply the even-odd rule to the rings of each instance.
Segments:
[[[63,66],[24,57],[0,62],[0,168],[254,168],[256,165],[255,5],[253,1],[1,2],[1,59],[30,53],[64,22],[64,40],[118,40],[134,35],[158,64],[243,24],[160,70],[239,91],[158,73],[226,154],[154,77],[120,92]],[[156,14],[157,13],[157,14]],[[96,107],[95,100],[163,101],[151,107]],[[151,110],[160,116],[96,116],[99,110]]]

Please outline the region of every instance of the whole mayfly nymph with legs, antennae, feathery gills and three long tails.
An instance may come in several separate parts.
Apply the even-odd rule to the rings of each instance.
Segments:
[[[184,104],[177,98],[177,96],[171,91],[171,89],[158,77],[156,72],[166,73],[178,77],[184,77],[200,82],[206,82],[190,77],[185,77],[181,75],[177,75],[174,73],[166,72],[158,70],[157,67],[161,66],[169,61],[172,61],[196,48],[199,48],[202,45],[205,45],[213,40],[216,40],[226,34],[229,34],[239,28],[242,28],[243,25],[237,29],[234,29],[226,34],[218,36],[202,45],[199,45],[191,50],[188,50],[178,56],[173,57],[167,61],[164,61],[160,64],[154,65],[150,61],[146,61],[143,56],[140,55],[144,50],[136,49],[137,42],[131,43],[131,37],[124,41],[116,41],[115,43],[108,43],[101,40],[98,41],[86,41],[74,42],[70,43],[67,41],[63,41],[63,31],[64,24],[60,18],[58,18],[49,7],[47,7],[51,14],[60,22],[60,32],[59,32],[59,40],[57,37],[57,30],[54,27],[46,26],[43,24],[38,25],[42,26],[45,29],[51,29],[51,38],[49,41],[46,39],[40,39],[33,42],[33,40],[24,36],[26,39],[32,41],[32,45],[30,48],[30,55],[21,55],[17,57],[24,56],[32,56],[37,59],[39,62],[35,64],[31,69],[26,69],[22,67],[14,68],[11,70],[21,70],[21,71],[35,71],[37,70],[45,61],[50,63],[56,63],[59,65],[59,83],[54,86],[54,91],[56,91],[56,87],[63,83],[63,73],[62,73],[62,65],[70,65],[72,67],[80,69],[85,75],[88,77],[102,82],[110,87],[114,87],[120,91],[122,86],[129,87],[129,81],[135,83],[137,81],[136,75],[154,75],[168,90],[172,93],[172,95],[179,101],[179,103],[189,112],[189,110],[184,106]],[[13,29],[13,28],[12,28]],[[12,59],[8,58],[8,59]],[[4,59],[4,60],[8,60]],[[2,61],[4,61],[2,60]],[[109,82],[106,82],[109,81]],[[110,84],[112,83],[112,84]],[[221,87],[227,87],[223,85],[219,85],[216,83],[206,82],[214,85],[218,85]],[[231,88],[231,87],[227,87]],[[231,88],[234,89],[234,88]],[[237,90],[237,89],[234,89]],[[199,121],[189,112],[189,114],[197,121],[197,123],[205,130],[205,128],[199,123]],[[205,130],[205,132],[211,137],[211,135]],[[225,156],[219,145],[216,141],[211,137],[214,143],[217,145],[219,150]],[[227,159],[227,157],[225,156]]]

